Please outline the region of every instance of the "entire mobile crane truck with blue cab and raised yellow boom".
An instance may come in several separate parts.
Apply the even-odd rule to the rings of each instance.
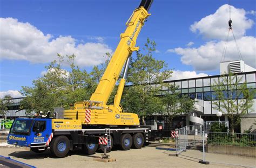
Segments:
[[[99,139],[105,135],[109,151],[113,145],[119,145],[123,150],[142,148],[148,142],[150,129],[139,125],[137,114],[124,113],[120,100],[130,57],[139,49],[136,40],[150,16],[148,11],[152,1],[142,0],[127,20],[126,30],[120,34],[116,51],[90,100],[76,102],[71,109],[64,110],[63,117],[16,119],[10,129],[8,143],[28,146],[38,153],[50,147],[57,157],[65,157],[74,148],[81,148],[87,154],[95,153],[100,150]],[[114,103],[107,105],[123,68]]]

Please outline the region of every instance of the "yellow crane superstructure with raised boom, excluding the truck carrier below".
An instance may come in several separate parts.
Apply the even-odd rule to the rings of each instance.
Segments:
[[[120,42],[114,52],[105,73],[92,94],[89,101],[77,102],[72,109],[64,111],[65,118],[81,120],[82,124],[106,124],[106,125],[139,125],[137,114],[124,113],[120,100],[122,97],[125,75],[129,67],[129,60],[133,51],[138,51],[136,40],[144,22],[150,14],[152,1],[142,1],[139,8],[133,11],[126,22],[126,30],[120,34]],[[124,66],[125,65],[125,66]],[[113,91],[119,75],[124,67],[123,78],[119,82],[114,104],[107,105],[107,101]]]

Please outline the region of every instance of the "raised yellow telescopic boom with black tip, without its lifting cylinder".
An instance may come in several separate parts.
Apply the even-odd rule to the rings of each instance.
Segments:
[[[91,101],[102,102],[105,105],[109,100],[126,60],[133,51],[138,51],[139,49],[135,47],[136,40],[144,25],[145,19],[150,16],[147,11],[151,3],[152,0],[143,0],[139,8],[133,11],[131,17],[126,22],[127,28],[124,33],[120,34],[120,42],[112,55],[109,65],[107,65],[102,79],[99,81],[95,93],[91,96]]]

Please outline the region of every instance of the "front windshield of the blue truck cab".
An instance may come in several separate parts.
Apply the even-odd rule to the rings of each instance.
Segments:
[[[32,120],[15,120],[12,124],[10,134],[29,135]]]

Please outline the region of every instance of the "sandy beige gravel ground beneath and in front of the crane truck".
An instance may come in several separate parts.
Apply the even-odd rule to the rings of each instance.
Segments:
[[[102,153],[86,156],[82,151],[72,151],[65,158],[54,158],[48,149],[44,153],[33,153],[26,148],[0,148],[0,155],[10,156],[26,164],[36,167],[245,167],[225,164],[210,163],[210,165],[199,164],[201,152],[187,150],[179,157],[169,156],[172,151],[156,150],[146,146],[142,149],[130,149],[129,151],[114,150],[109,153],[116,162],[102,163],[93,160]],[[209,153],[210,154],[210,153]],[[240,165],[255,166],[255,159],[241,158],[236,156],[212,154],[207,155],[222,162],[239,163]],[[233,161],[232,161],[233,160]]]

